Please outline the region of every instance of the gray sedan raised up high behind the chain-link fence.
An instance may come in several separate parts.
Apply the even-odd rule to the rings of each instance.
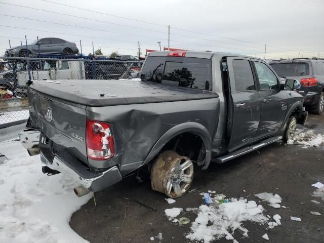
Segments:
[[[76,54],[79,50],[75,43],[64,41],[60,38],[42,38],[39,41],[34,41],[31,44],[17,46],[10,48],[6,51],[5,56],[8,57],[26,57],[28,54],[63,54],[71,55]],[[39,49],[38,49],[39,48]]]

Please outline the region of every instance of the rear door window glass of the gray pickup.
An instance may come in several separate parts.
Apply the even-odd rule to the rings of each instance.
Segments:
[[[256,90],[252,68],[248,60],[233,60],[233,72],[236,91]]]

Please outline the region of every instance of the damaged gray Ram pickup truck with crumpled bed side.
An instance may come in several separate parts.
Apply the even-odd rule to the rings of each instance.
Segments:
[[[218,52],[153,52],[140,79],[33,81],[21,132],[43,172],[99,191],[145,166],[153,190],[189,189],[194,168],[224,163],[295,132],[307,112],[296,80],[263,60]],[[195,165],[193,165],[195,163]]]

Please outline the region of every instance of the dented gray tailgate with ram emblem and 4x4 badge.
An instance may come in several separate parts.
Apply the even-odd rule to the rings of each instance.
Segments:
[[[44,136],[66,149],[84,163],[88,163],[86,150],[86,106],[73,104],[44,93],[29,90],[29,111],[32,124]],[[42,141],[41,141],[42,142]]]

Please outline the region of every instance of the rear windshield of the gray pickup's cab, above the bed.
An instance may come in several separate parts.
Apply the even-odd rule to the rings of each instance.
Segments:
[[[154,83],[212,90],[212,61],[193,57],[148,57],[141,79]]]

